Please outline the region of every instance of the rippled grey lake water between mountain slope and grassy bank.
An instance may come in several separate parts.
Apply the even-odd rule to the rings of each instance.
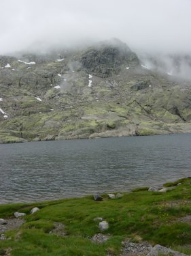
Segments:
[[[0,203],[161,186],[191,175],[191,134],[0,145]]]

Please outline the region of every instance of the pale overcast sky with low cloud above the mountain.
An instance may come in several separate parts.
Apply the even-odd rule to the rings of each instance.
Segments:
[[[1,0],[0,54],[119,38],[134,51],[191,52],[191,0]]]

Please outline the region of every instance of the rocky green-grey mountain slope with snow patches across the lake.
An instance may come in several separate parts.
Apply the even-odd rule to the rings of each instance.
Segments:
[[[0,142],[191,132],[191,83],[119,40],[0,57]]]

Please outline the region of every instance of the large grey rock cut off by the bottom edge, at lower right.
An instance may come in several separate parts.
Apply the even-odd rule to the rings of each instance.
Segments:
[[[186,256],[186,254],[184,253],[179,253],[167,247],[156,244],[156,246],[152,248],[152,250],[150,251],[150,253],[147,254],[147,256],[158,256],[158,255]]]

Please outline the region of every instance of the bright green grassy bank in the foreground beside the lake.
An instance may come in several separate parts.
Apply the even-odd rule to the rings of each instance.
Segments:
[[[0,241],[0,255],[11,249],[11,255],[119,255],[121,242],[148,241],[150,244],[171,246],[191,254],[191,179],[167,184],[167,192],[150,192],[145,188],[125,193],[122,198],[94,201],[92,196],[80,199],[0,205],[0,218],[12,218],[14,212],[25,212],[26,223],[7,231]],[[177,186],[179,184],[179,186]],[[40,210],[29,214],[33,207]],[[109,235],[103,244],[92,242],[99,230],[101,217],[109,223],[102,233]],[[50,233],[54,223],[63,223],[63,233]]]

